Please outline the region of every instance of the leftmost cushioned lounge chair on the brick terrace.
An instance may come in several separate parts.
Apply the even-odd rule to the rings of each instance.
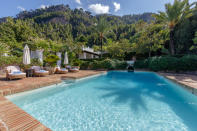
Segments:
[[[22,72],[19,66],[8,66],[6,67],[6,79],[21,79],[25,78],[26,73]]]

